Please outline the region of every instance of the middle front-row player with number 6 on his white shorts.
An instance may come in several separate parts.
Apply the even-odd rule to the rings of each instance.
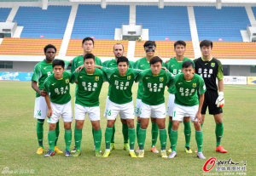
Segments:
[[[128,125],[128,137],[130,140],[130,156],[137,157],[134,152],[136,133],[134,128],[134,105],[131,88],[137,74],[140,71],[129,68],[129,60],[124,56],[117,60],[117,68],[102,67],[108,76],[110,86],[108,101],[108,124],[105,132],[106,150],[103,157],[110,155],[110,142],[113,135],[113,124],[119,115],[125,119]]]

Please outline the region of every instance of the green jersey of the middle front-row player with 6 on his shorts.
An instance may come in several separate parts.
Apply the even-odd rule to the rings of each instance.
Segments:
[[[109,99],[116,104],[122,105],[132,101],[131,87],[137,75],[141,71],[128,68],[125,76],[119,75],[118,68],[102,67],[107,74],[109,82]]]

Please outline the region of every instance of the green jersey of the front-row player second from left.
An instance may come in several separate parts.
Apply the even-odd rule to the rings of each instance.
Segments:
[[[102,84],[107,81],[107,77],[100,69],[95,68],[93,74],[88,74],[85,68],[82,71],[73,73],[74,82],[78,83],[76,94],[76,104],[86,107],[99,106],[99,95]]]

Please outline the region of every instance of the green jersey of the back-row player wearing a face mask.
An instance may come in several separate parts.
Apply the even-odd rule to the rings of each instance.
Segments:
[[[163,66],[164,66],[163,62]],[[146,57],[143,57],[142,59],[139,59],[135,62],[133,65],[134,69],[138,70],[146,70],[150,68],[149,61],[146,59]],[[143,98],[143,82],[139,82],[138,89],[137,89],[137,99]]]

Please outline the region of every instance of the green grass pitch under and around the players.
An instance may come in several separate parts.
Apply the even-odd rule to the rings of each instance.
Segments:
[[[71,87],[74,97],[74,85]],[[96,158],[93,152],[91,125],[88,117],[84,122],[82,139],[82,156],[65,157],[56,154],[44,158],[38,156],[38,141],[36,136],[36,119],[33,118],[35,92],[31,82],[0,82],[0,174],[4,169],[9,173],[23,175],[203,175],[203,164],[195,154],[185,154],[183,125],[178,130],[177,157],[163,159],[151,153],[151,124],[148,126],[144,158],[131,158],[123,150],[123,136],[119,118],[116,122],[115,143],[108,158]],[[108,84],[105,83],[100,95],[101,115],[105,108]],[[133,87],[133,98],[136,101],[137,84]],[[166,92],[166,101],[167,101]],[[215,122],[207,115],[203,127],[203,152],[207,159],[215,156],[217,160],[234,162],[247,161],[247,175],[256,175],[256,87],[253,86],[225,86],[224,87],[224,139],[222,144],[229,152],[220,154],[215,152]],[[102,151],[105,149],[104,133],[106,118],[102,116]],[[166,125],[167,123],[166,117]],[[74,121],[72,127],[74,126]],[[60,123],[61,133],[58,146],[64,150],[63,122]],[[195,129],[192,128],[190,147],[195,150]],[[44,123],[44,148],[49,149],[48,124]],[[74,141],[72,141],[73,148]],[[167,139],[167,149],[170,141]],[[136,145],[137,148],[137,145]],[[157,148],[160,149],[158,139]],[[216,166],[215,166],[216,167]],[[215,167],[209,173],[216,173]],[[219,172],[218,172],[219,173]],[[233,172],[238,175],[236,172]],[[216,173],[217,174],[217,173]],[[224,174],[224,173],[222,173]]]

